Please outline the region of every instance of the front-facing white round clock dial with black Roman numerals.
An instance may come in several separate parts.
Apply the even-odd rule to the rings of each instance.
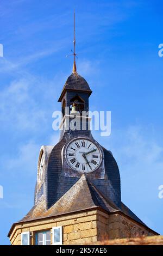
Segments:
[[[76,139],[66,148],[66,160],[69,166],[82,173],[96,170],[102,161],[101,150],[88,139]]]

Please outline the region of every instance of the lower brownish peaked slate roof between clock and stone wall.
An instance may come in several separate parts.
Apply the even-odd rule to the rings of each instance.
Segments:
[[[62,196],[51,208],[46,210],[44,197],[33,206],[28,214],[19,222],[33,221],[47,217],[71,214],[78,211],[101,208],[107,212],[123,212],[135,221],[145,225],[136,217],[127,206],[123,205],[123,210],[118,208],[111,200],[105,198],[103,194],[93,185],[83,174],[81,178]],[[131,213],[133,215],[131,215]]]

